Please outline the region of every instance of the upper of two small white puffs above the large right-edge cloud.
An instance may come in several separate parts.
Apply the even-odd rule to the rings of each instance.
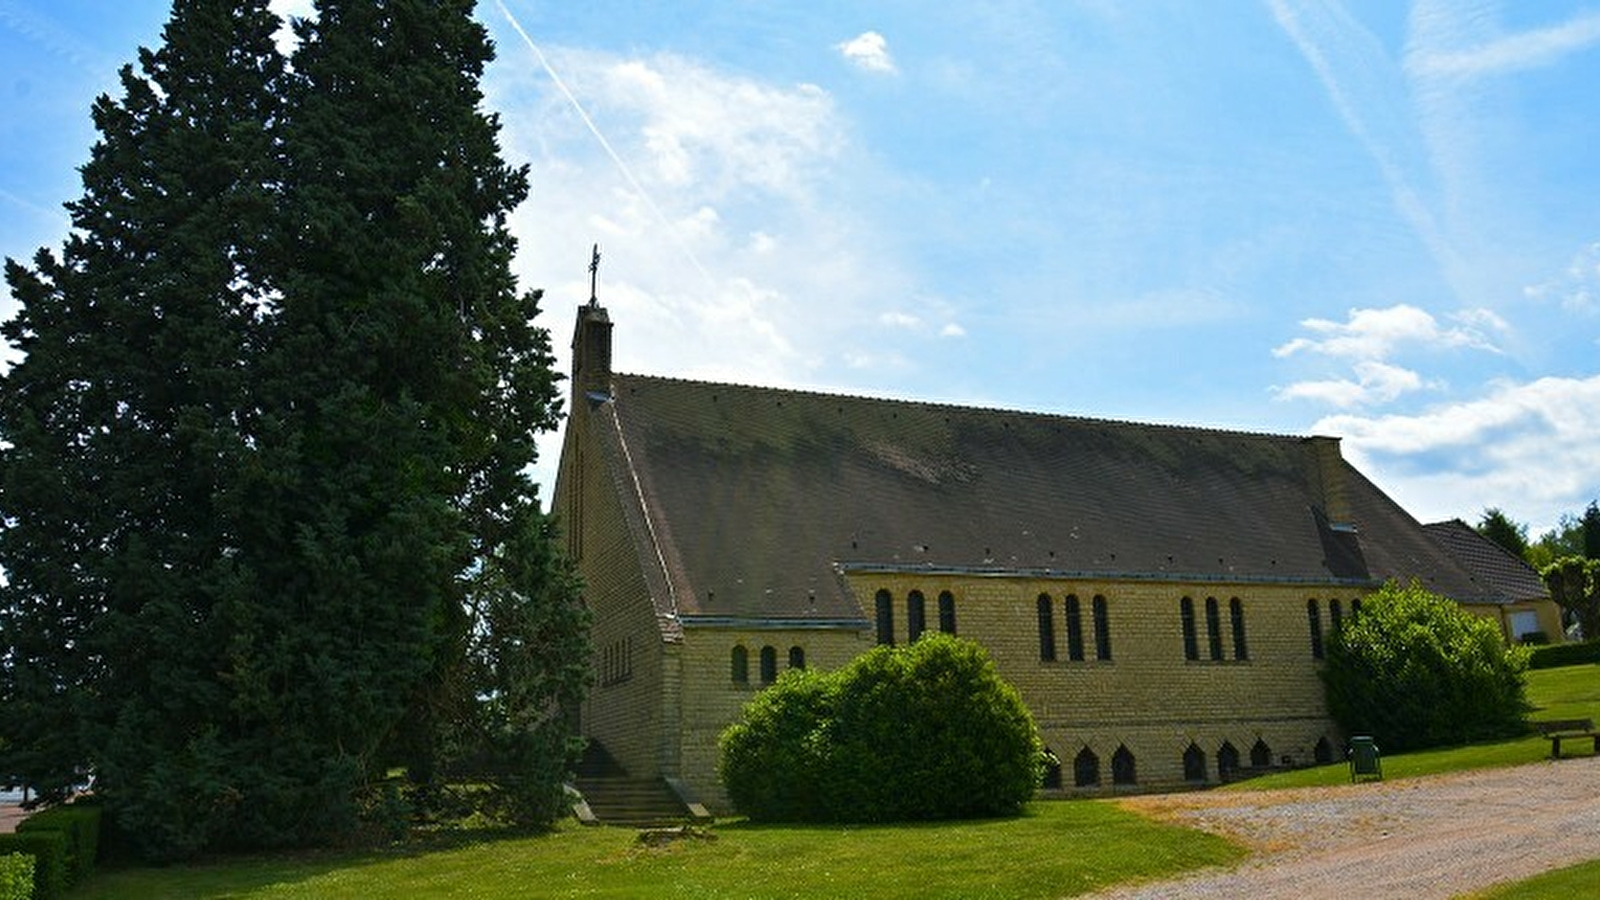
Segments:
[[[1485,309],[1466,311],[1454,317],[1459,327],[1443,327],[1426,309],[1397,304],[1387,309],[1352,309],[1346,322],[1306,319],[1301,327],[1310,338],[1294,338],[1272,351],[1286,357],[1301,351],[1357,360],[1384,360],[1398,348],[1470,348],[1499,352],[1483,327],[1504,330],[1506,323]]]

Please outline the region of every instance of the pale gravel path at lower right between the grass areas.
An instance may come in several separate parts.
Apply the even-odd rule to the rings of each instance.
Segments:
[[[1256,852],[1229,871],[1096,895],[1106,900],[1450,898],[1600,858],[1600,757],[1339,788],[1157,794],[1123,806]]]

